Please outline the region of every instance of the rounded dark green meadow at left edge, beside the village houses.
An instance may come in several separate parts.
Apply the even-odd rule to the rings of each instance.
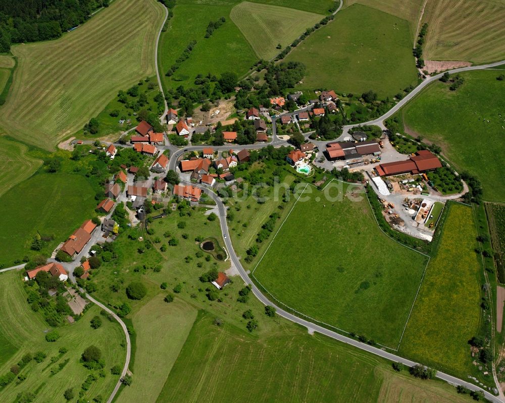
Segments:
[[[0,263],[9,267],[25,255],[51,255],[95,207],[94,191],[80,175],[40,172],[19,183],[0,197]],[[55,236],[40,252],[30,250],[37,231]]]

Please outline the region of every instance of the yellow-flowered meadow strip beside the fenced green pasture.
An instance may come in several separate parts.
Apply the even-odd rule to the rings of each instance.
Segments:
[[[474,368],[468,340],[479,334],[482,268],[472,209],[449,208],[399,353],[463,379]]]

